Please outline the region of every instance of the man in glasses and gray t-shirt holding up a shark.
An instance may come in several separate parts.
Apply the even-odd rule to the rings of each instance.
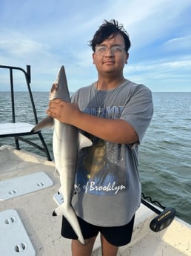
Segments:
[[[124,78],[130,39],[122,25],[115,20],[104,21],[90,46],[98,80],[79,89],[73,95],[72,103],[53,100],[47,114],[89,134],[93,138],[93,145],[96,139],[104,140],[106,148],[99,154],[107,152],[110,165],[102,161],[101,168],[96,170],[96,154],[92,154],[92,160],[88,158],[87,162],[91,149],[85,148],[79,152],[73,207],[78,215],[85,245],[77,240],[64,217],[61,234],[73,239],[73,256],[90,256],[100,232],[102,255],[116,256],[118,246],[130,243],[135,211],[141,203],[138,145],[153,116],[153,101],[146,86]],[[94,166],[90,166],[90,163],[94,163]],[[114,173],[110,166],[115,167],[115,175],[118,175],[116,180],[121,180],[121,183],[115,180],[114,175],[110,175]],[[84,171],[84,168],[89,171]],[[90,169],[96,175],[91,177]],[[102,174],[98,175],[100,170]],[[81,184],[80,180],[83,179],[78,179],[81,173],[87,174],[85,185]],[[103,181],[101,177],[104,177]]]

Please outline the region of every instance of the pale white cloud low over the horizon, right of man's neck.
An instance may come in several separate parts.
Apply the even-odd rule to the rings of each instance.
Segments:
[[[124,75],[130,80],[143,83],[152,91],[190,91],[191,56],[179,61],[161,59],[140,62],[125,68]]]

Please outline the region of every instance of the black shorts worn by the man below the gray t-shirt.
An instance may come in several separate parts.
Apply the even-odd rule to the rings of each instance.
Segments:
[[[124,246],[127,243],[130,243],[133,233],[134,220],[135,215],[133,216],[130,223],[124,226],[102,227],[87,223],[78,217],[78,222],[81,226],[81,232],[84,239],[95,237],[98,232],[100,232],[107,240],[107,242],[113,244],[113,246]],[[76,233],[73,231],[73,228],[70,226],[70,223],[67,222],[64,216],[62,218],[61,235],[65,238],[74,240],[78,239]]]

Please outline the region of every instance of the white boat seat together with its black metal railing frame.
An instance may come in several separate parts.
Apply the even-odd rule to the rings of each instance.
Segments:
[[[24,70],[23,68],[19,67],[13,67],[13,66],[6,66],[6,65],[0,65],[0,69],[6,69],[9,70],[9,80],[10,80],[10,89],[7,88],[7,91],[10,91],[10,100],[11,100],[11,121],[10,119],[8,122],[3,122],[0,120],[0,138],[3,137],[14,137],[16,149],[20,149],[19,140],[22,142],[26,142],[29,145],[34,146],[38,150],[44,152],[44,154],[47,156],[47,160],[51,161],[50,153],[47,148],[47,144],[44,141],[44,137],[41,134],[41,131],[31,132],[33,125],[28,122],[17,122],[16,119],[16,108],[15,108],[15,89],[14,89],[14,82],[13,82],[13,70],[20,70],[22,73],[24,73],[25,82],[27,85],[27,92],[30,96],[30,103],[33,110],[33,117],[34,122],[38,123],[38,117],[36,114],[36,106],[33,100],[33,93],[30,88],[30,82],[31,82],[31,75],[30,75],[30,65],[27,65],[27,70]],[[1,88],[0,88],[1,91]],[[1,105],[3,105],[3,102],[0,102]],[[7,102],[5,103],[7,105]],[[7,109],[7,108],[6,108]],[[5,113],[3,110],[3,116],[5,116]],[[36,142],[29,139],[29,136],[38,135],[39,140],[41,141],[41,146],[36,144]]]

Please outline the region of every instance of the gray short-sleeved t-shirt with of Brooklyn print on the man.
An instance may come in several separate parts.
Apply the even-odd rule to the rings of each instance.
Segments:
[[[152,93],[146,86],[129,80],[110,91],[97,91],[93,83],[79,89],[72,102],[91,115],[124,119],[138,134],[138,143],[134,145],[107,142],[85,134],[93,146],[78,154],[73,196],[76,214],[96,226],[125,225],[141,203],[138,144],[153,116]]]

